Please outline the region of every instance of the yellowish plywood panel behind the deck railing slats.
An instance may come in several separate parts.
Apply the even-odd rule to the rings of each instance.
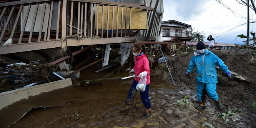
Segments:
[[[96,9],[96,17],[97,17],[97,9]],[[112,29],[112,11],[113,7],[110,6],[108,10],[108,6],[104,6],[104,21],[103,21],[103,29],[107,29],[107,19],[108,20],[108,28]],[[109,13],[109,14],[108,14]],[[108,16],[109,15],[109,16]],[[121,29],[121,17],[122,17],[122,7],[119,7],[118,11],[118,29]],[[114,7],[114,20],[113,20],[113,28],[116,29],[116,19],[117,19],[117,7]],[[126,20],[126,7],[123,7],[123,29],[125,29],[125,20]],[[129,28],[130,22],[130,8],[127,8],[127,23],[126,28]],[[102,25],[102,5],[99,6],[99,17],[98,17],[98,29],[101,29]],[[96,28],[96,23],[95,23]],[[131,8],[131,28],[133,30],[146,30],[147,29],[147,11],[143,9]]]

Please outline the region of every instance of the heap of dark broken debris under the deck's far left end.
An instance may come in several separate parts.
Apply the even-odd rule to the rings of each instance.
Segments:
[[[49,65],[44,61],[32,61],[30,64],[14,63],[0,68],[0,92],[39,85],[50,82],[50,73],[58,66]]]

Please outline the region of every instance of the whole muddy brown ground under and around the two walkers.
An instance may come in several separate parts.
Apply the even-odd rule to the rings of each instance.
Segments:
[[[228,121],[228,125],[216,121],[223,122],[218,119],[216,112],[220,111],[209,97],[206,98],[206,109],[200,111],[207,116],[188,110],[177,103],[178,100],[183,100],[184,96],[190,95],[188,100],[198,105],[195,70],[189,78],[184,76],[190,58],[193,56],[193,52],[188,52],[176,56],[166,55],[175,85],[172,81],[171,83],[168,80],[161,81],[163,77],[160,71],[151,72],[149,96],[152,113],[146,119],[142,117],[145,108],[140,101],[139,91],[129,115],[120,113],[117,109],[118,106],[124,105],[133,81],[133,78],[120,80],[121,77],[128,76],[128,71],[119,74],[111,73],[115,70],[113,68],[95,73],[100,65],[94,65],[81,71],[79,81],[82,82],[79,86],[78,82],[73,82],[73,86],[32,96],[1,109],[0,127],[5,128],[11,125],[10,128],[204,128],[203,124],[207,122],[215,128],[233,128],[234,126],[255,128],[256,112],[248,104],[256,101],[256,61],[254,59],[251,61],[251,51],[212,50],[212,52],[224,61],[229,70],[237,73],[234,75],[234,80],[230,81],[226,74],[217,70],[219,81],[217,93],[224,107],[221,113],[230,110],[247,112],[238,113],[237,119]],[[111,75],[105,80],[84,86],[86,80],[103,78],[110,73]],[[168,76],[171,80],[170,75]],[[245,79],[241,80],[238,76],[243,76]],[[38,106],[47,108],[34,108]],[[30,111],[20,121],[12,125],[28,110]]]

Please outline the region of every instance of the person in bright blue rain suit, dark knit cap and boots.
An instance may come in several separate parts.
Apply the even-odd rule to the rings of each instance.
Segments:
[[[196,106],[196,109],[205,108],[205,95],[207,93],[210,98],[216,101],[218,110],[222,110],[221,101],[216,93],[216,83],[218,83],[216,66],[218,66],[221,71],[224,71],[224,73],[229,76],[230,80],[233,80],[233,75],[230,74],[228,67],[218,56],[206,49],[203,42],[198,42],[196,49],[197,51],[194,52],[194,56],[191,58],[190,65],[185,73],[186,78],[188,78],[188,74],[196,67],[196,89],[197,97],[200,102],[199,106]]]

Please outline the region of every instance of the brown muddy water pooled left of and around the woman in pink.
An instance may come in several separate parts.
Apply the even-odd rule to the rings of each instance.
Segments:
[[[79,80],[92,80],[95,78],[105,77],[111,71],[104,73],[94,73],[93,71],[83,71],[80,74]],[[120,73],[121,74],[121,73]],[[106,78],[126,77],[126,75],[117,75],[112,73]],[[124,115],[118,111],[118,106],[124,106],[126,96],[132,84],[133,78],[125,80],[107,80],[100,81],[89,86],[80,86],[74,88],[68,86],[59,90],[53,90],[46,93],[41,93],[37,96],[29,97],[27,100],[21,100],[13,105],[0,110],[0,127],[7,127],[16,122],[18,118],[30,110],[20,121],[10,126],[15,127],[147,127],[147,126],[164,126],[161,123],[163,117],[160,113],[153,112],[155,119],[153,122],[146,122],[149,119],[144,119],[142,115],[145,113],[145,108],[140,100],[140,93],[137,92],[135,105],[132,108],[130,115]],[[150,93],[151,98],[156,95],[152,90],[157,88],[174,89],[174,85],[162,81],[151,80]],[[151,95],[153,93],[153,95]],[[153,100],[153,99],[151,99]],[[163,100],[164,101],[164,100]],[[163,102],[162,101],[162,102]],[[73,103],[63,105],[65,103]],[[54,106],[49,108],[34,108],[37,106]],[[67,119],[67,117],[74,116],[75,111],[80,112],[78,121]],[[13,118],[15,117],[15,118]],[[152,116],[151,116],[152,117]],[[150,119],[152,120],[152,119]],[[164,121],[166,122],[166,121]]]

